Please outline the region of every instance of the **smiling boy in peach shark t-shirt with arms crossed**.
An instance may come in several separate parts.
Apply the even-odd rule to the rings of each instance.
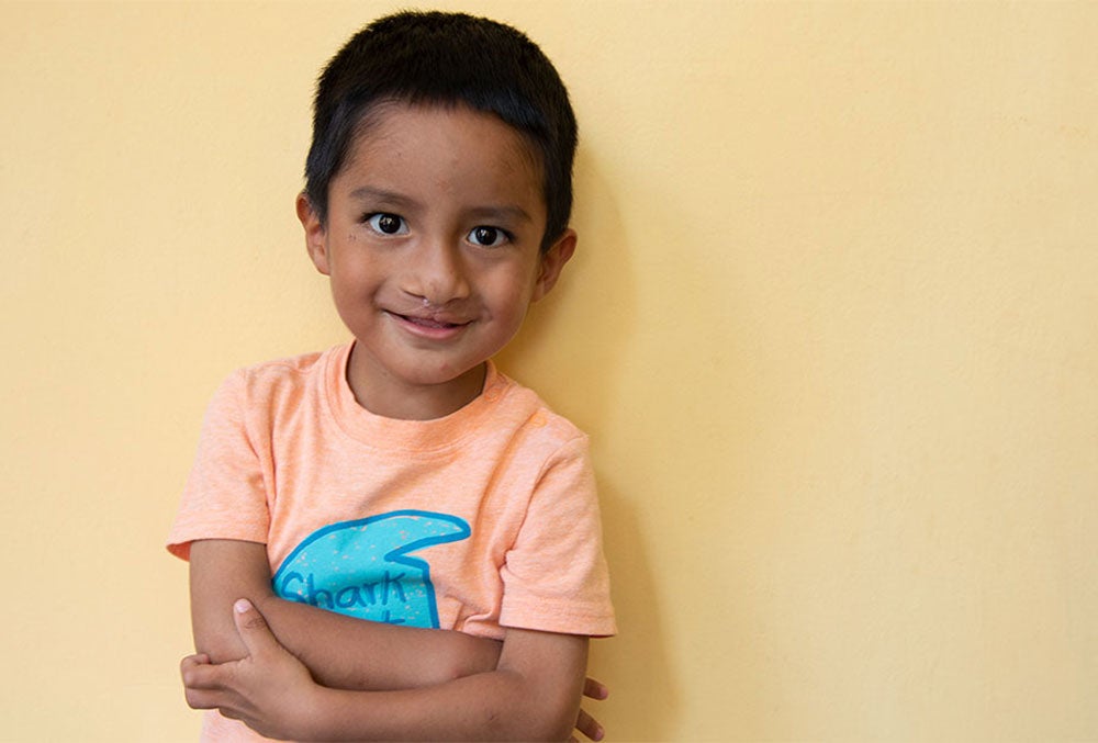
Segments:
[[[313,126],[298,216],[354,340],[208,410],[168,545],[203,735],[597,736],[587,441],[490,360],[575,248],[568,93],[514,29],[399,13],[332,59]]]

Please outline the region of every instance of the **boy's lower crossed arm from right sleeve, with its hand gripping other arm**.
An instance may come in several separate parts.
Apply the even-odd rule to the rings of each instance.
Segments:
[[[318,686],[278,644],[262,615],[238,601],[247,656],[183,661],[192,707],[219,708],[264,735],[299,740],[564,740],[579,710],[584,637],[508,630],[498,667],[418,689],[348,691]]]

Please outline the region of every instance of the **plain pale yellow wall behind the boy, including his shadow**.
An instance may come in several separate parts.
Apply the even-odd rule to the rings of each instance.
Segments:
[[[217,381],[344,338],[292,204],[396,4],[0,4],[0,739],[193,739],[161,542]],[[583,130],[504,362],[594,439],[612,740],[1098,738],[1098,5],[462,7]]]

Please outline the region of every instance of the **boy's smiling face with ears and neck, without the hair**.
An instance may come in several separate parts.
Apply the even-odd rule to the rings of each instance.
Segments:
[[[384,104],[328,188],[304,195],[310,256],[357,340],[348,382],[379,415],[427,419],[475,397],[484,361],[522,326],[575,248],[541,255],[541,172],[522,136],[458,106]]]

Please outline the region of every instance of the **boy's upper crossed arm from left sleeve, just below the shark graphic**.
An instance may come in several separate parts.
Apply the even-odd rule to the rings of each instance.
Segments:
[[[247,653],[232,612],[240,597],[261,609],[279,642],[327,687],[404,689],[438,684],[493,669],[500,657],[494,640],[368,622],[278,598],[271,590],[267,549],[256,542],[193,542],[190,575],[195,650],[215,663]]]

